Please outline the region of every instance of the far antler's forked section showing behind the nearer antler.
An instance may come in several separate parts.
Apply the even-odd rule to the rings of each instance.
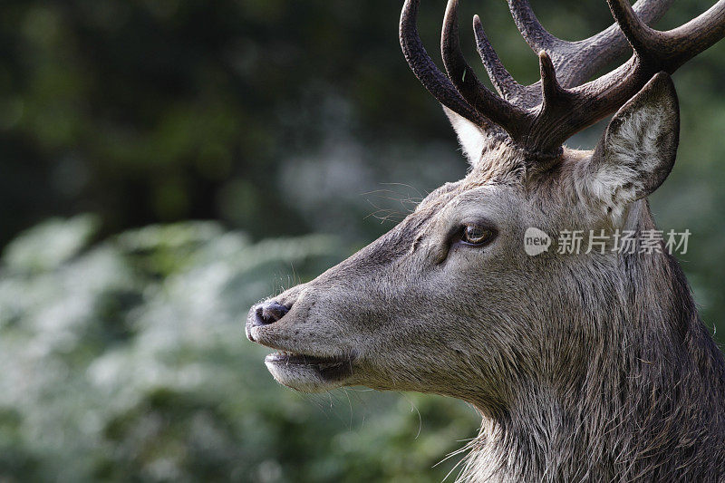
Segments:
[[[652,24],[662,18],[672,2],[639,0],[633,10],[644,24]],[[564,87],[574,87],[585,82],[627,49],[627,42],[617,24],[587,39],[567,42],[546,31],[527,0],[508,0],[508,8],[519,32],[534,52],[546,50],[549,53],[559,82]]]

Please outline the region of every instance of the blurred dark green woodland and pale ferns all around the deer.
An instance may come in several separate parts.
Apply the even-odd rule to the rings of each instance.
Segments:
[[[420,33],[438,59],[445,3],[422,4]],[[603,1],[533,6],[567,40],[611,23]],[[658,26],[709,6],[678,0]],[[465,174],[440,105],[402,58],[400,8],[0,5],[0,479],[448,472],[430,467],[475,434],[465,405],[284,391],[239,324],[249,304],[316,275]],[[500,0],[461,6],[479,77],[473,13],[514,76],[536,81],[536,56]],[[662,229],[691,230],[681,263],[703,320],[722,333],[725,43],[674,79],[681,148],[652,209]],[[598,130],[569,144],[590,148]]]

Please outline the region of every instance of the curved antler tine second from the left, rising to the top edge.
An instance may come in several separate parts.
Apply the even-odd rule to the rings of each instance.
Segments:
[[[443,19],[440,51],[446,72],[463,99],[483,116],[504,128],[512,138],[517,139],[520,128],[524,127],[522,121],[527,113],[490,92],[478,81],[460,51],[458,5],[459,0],[449,0]]]

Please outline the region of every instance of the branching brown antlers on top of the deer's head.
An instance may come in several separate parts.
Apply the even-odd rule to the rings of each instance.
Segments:
[[[527,150],[556,152],[575,132],[616,111],[652,75],[674,72],[725,36],[725,0],[667,32],[654,30],[646,23],[660,18],[672,0],[660,4],[641,0],[634,8],[627,0],[607,3],[616,24],[583,41],[565,42],[546,32],[527,0],[508,0],[519,31],[538,52],[541,80],[526,86],[507,72],[475,16],[478,53],[501,97],[478,81],[460,51],[458,0],[449,0],[440,40],[448,77],[420,43],[415,25],[420,0],[406,0],[403,5],[401,46],[420,82],[450,110],[494,136],[502,134],[500,126]],[[623,53],[625,39],[634,50],[633,56],[614,71],[579,85]]]

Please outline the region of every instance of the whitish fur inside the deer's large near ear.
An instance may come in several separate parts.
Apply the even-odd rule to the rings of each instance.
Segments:
[[[641,198],[646,177],[662,163],[662,124],[662,112],[652,107],[627,114],[606,136],[603,162],[584,176],[585,192],[601,200],[612,217],[621,217],[628,203]]]

